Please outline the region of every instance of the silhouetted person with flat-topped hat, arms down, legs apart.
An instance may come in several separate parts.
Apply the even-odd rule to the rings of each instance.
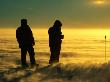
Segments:
[[[19,48],[21,48],[21,64],[27,67],[26,54],[29,53],[31,65],[36,64],[34,58],[34,48],[35,45],[34,38],[30,27],[27,25],[27,19],[21,19],[21,26],[16,30],[16,38],[19,43]]]

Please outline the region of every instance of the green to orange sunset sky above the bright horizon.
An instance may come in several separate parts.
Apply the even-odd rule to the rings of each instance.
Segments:
[[[26,18],[33,28],[56,19],[64,28],[110,28],[109,0],[0,0],[0,28],[16,28]]]

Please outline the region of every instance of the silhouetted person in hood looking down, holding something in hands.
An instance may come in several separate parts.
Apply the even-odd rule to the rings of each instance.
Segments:
[[[48,30],[49,34],[49,47],[51,51],[51,56],[49,64],[59,62],[59,55],[61,50],[61,43],[64,35],[61,32],[62,23],[59,20],[56,20],[53,27],[50,27]]]

